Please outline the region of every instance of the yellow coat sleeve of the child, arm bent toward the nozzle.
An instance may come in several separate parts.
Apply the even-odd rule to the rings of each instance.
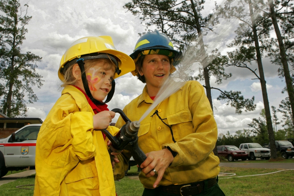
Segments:
[[[74,98],[63,94],[41,126],[37,148],[47,164],[71,169],[71,162],[94,156],[92,131],[92,112],[80,111]]]

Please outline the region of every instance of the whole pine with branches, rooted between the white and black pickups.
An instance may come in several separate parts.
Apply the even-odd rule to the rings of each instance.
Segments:
[[[240,21],[240,25],[236,30],[237,36],[235,40],[229,44],[229,47],[236,49],[232,52],[228,52],[229,61],[227,66],[245,68],[257,77],[255,79],[260,81],[271,157],[276,159],[275,135],[273,132],[266,80],[262,66],[262,51],[267,47],[267,45],[264,44],[267,42],[264,40],[269,38],[269,29],[271,27],[271,23],[269,22],[270,19],[261,14],[260,10],[264,6],[262,1],[227,0],[225,5],[219,8],[219,12],[220,16],[226,19],[237,19]],[[251,62],[257,62],[258,73],[256,73],[256,69],[251,69]]]

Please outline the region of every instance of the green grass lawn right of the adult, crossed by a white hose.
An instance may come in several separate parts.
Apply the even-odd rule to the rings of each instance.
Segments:
[[[277,169],[221,167],[220,172],[236,173],[237,176],[254,175],[278,171]],[[294,170],[275,174],[221,179],[218,184],[226,196],[292,196],[294,194]]]

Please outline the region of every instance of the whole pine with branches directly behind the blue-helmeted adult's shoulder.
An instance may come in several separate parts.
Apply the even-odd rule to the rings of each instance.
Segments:
[[[124,8],[128,9],[133,15],[138,16],[143,22],[145,21],[146,30],[150,30],[150,27],[156,27],[161,32],[167,34],[173,43],[182,51],[193,46],[192,43],[197,43],[200,50],[198,54],[195,54],[196,61],[200,62],[203,66],[203,70],[197,77],[191,77],[194,79],[204,79],[206,96],[209,100],[210,106],[213,110],[211,89],[217,89],[211,87],[210,77],[213,75],[220,84],[222,80],[226,80],[232,76],[224,72],[222,67],[223,62],[217,62],[220,60],[220,53],[214,53],[208,55],[205,50],[205,44],[203,36],[208,31],[214,31],[215,25],[218,23],[216,17],[213,14],[209,14],[203,17],[201,11],[203,8],[204,0],[188,0],[178,2],[176,0],[132,0],[132,2],[126,3]],[[214,60],[215,59],[215,60]],[[254,98],[244,99],[241,96],[241,92],[225,92],[221,91],[219,99],[226,100],[227,104],[236,106],[236,112],[241,113],[242,108],[246,110],[254,110],[255,104]],[[217,148],[213,150],[213,153],[217,155]]]

